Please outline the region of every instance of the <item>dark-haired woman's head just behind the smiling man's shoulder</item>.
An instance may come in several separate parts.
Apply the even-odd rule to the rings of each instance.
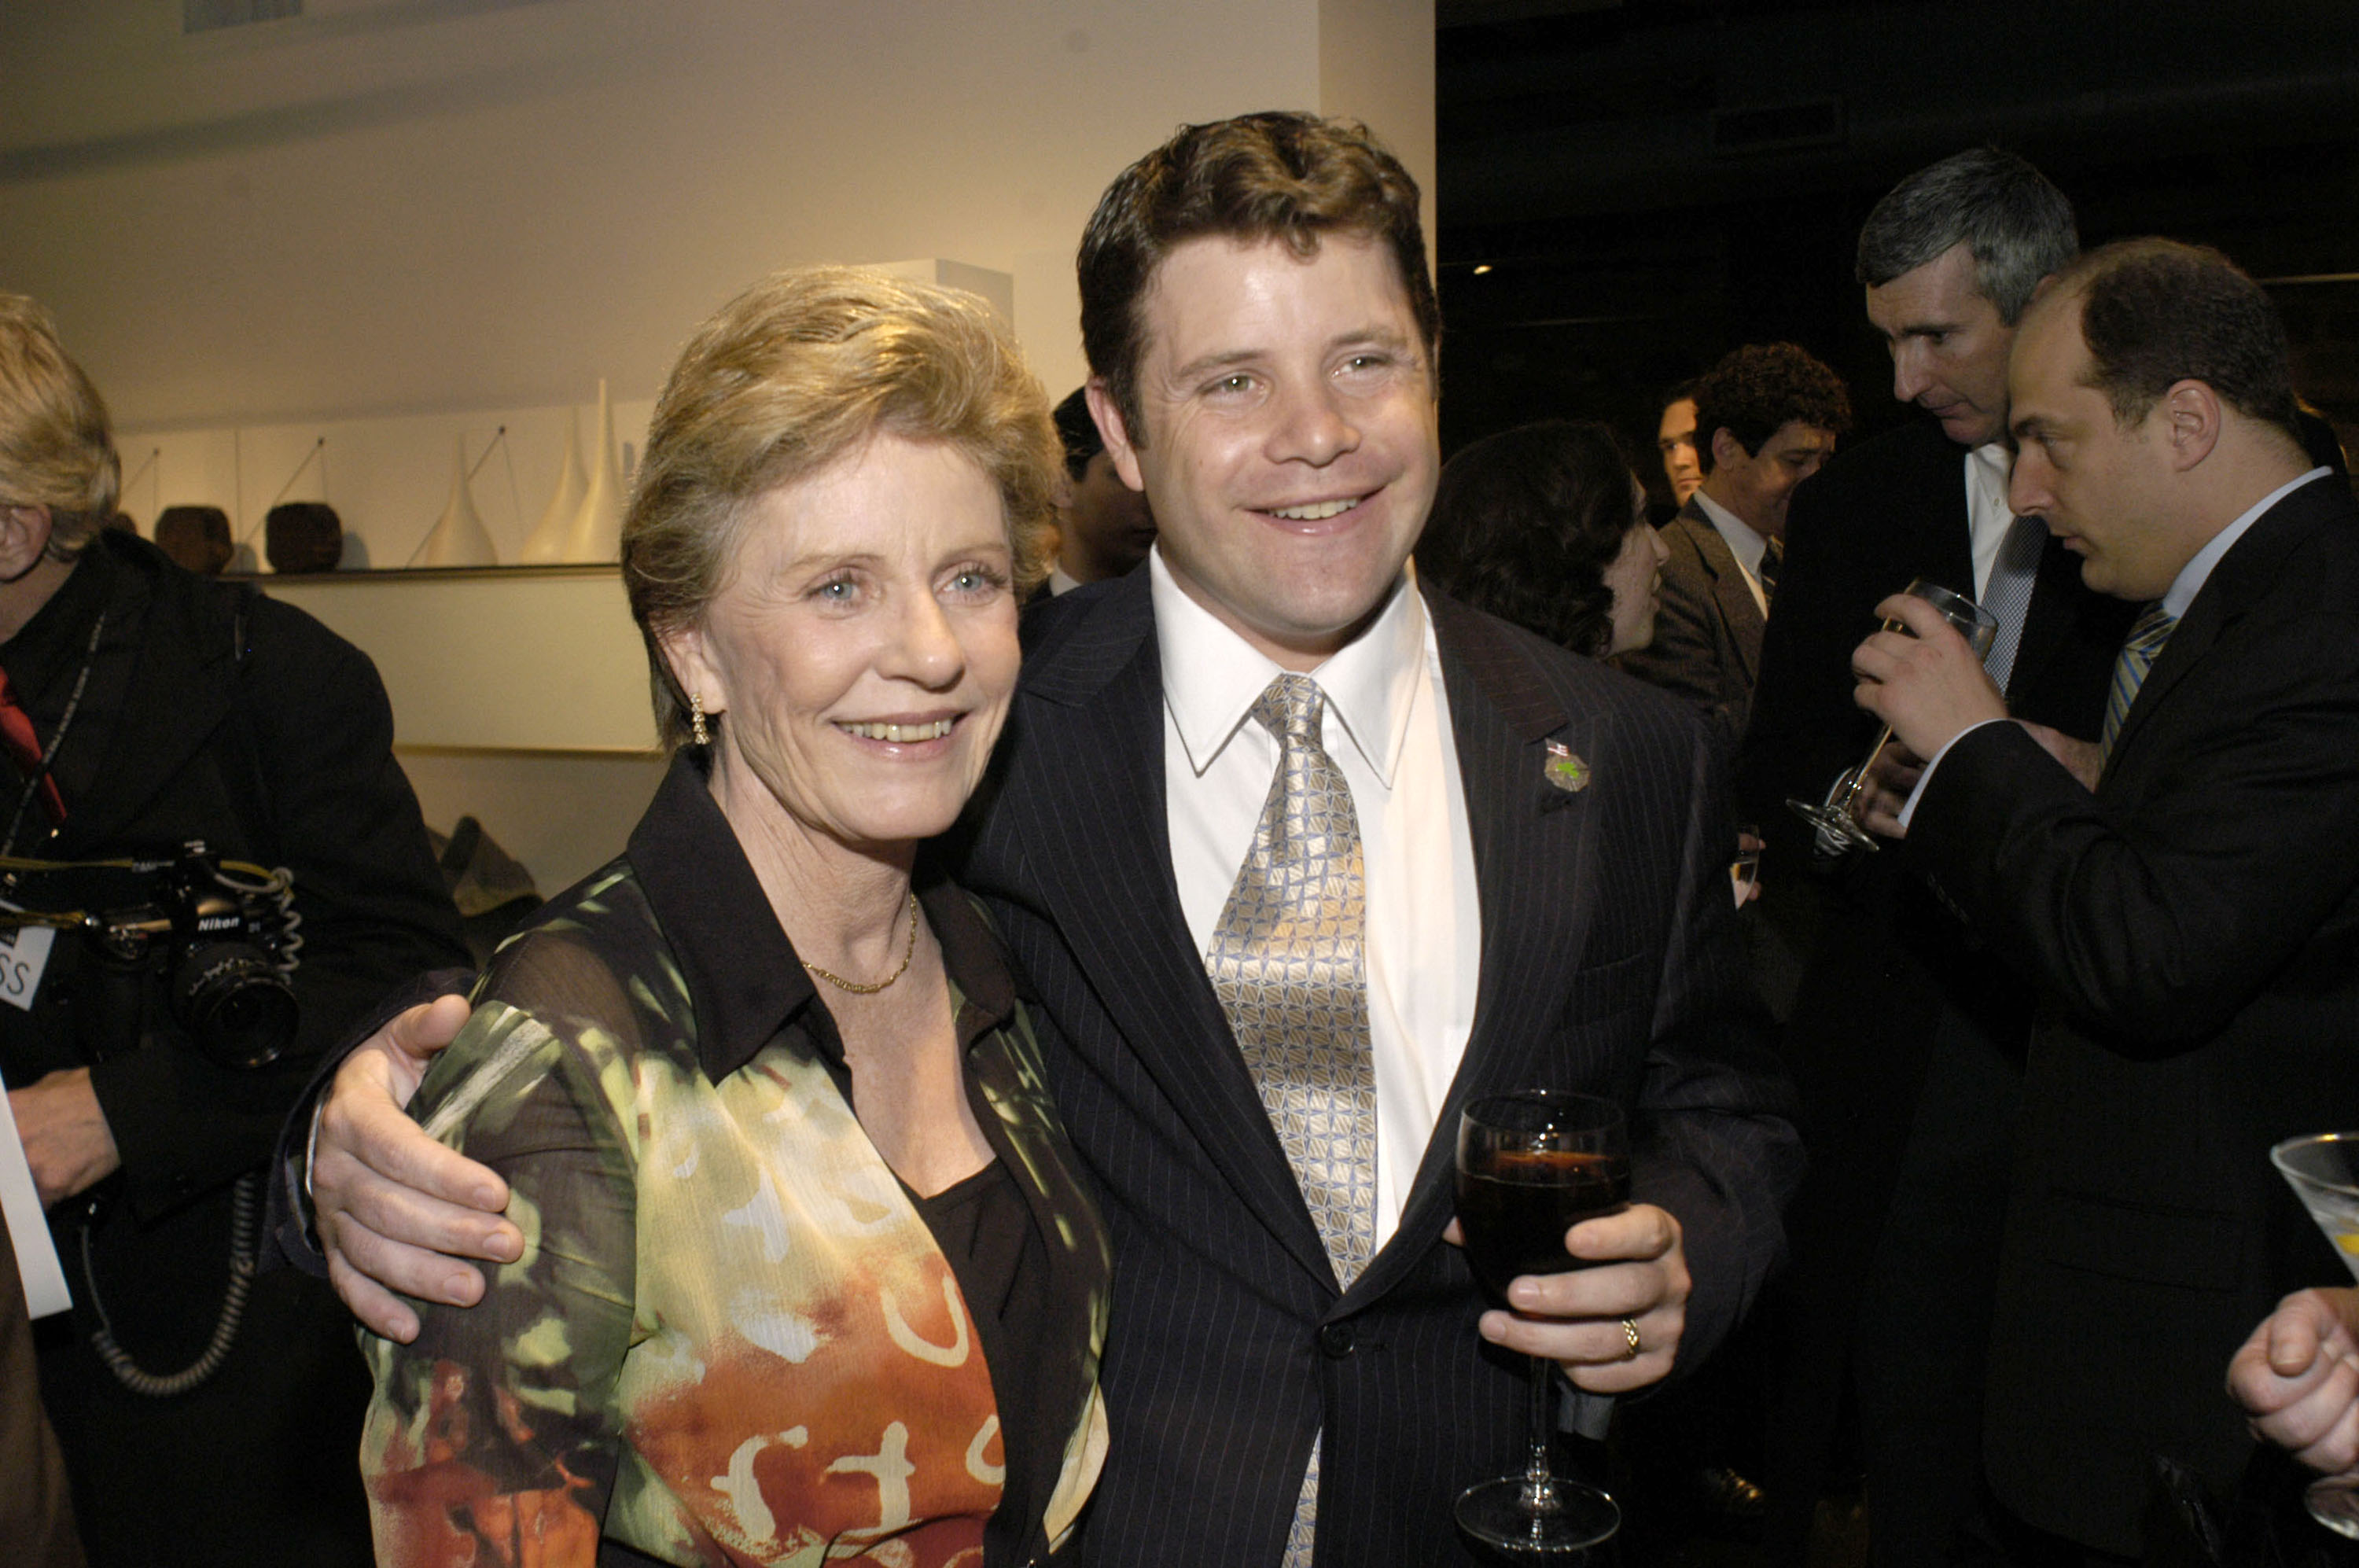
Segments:
[[[1444,465],[1418,571],[1479,611],[1606,658],[1654,641],[1665,554],[1614,429],[1540,420]]]

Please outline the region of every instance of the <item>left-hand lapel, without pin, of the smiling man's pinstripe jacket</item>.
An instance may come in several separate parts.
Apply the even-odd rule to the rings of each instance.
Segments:
[[[1326,1243],[1180,910],[1149,573],[1130,573],[1099,599],[1038,677],[1026,674],[1026,689],[1024,773],[1005,797],[1024,818],[1026,882],[1205,1160],[1333,1285]]]

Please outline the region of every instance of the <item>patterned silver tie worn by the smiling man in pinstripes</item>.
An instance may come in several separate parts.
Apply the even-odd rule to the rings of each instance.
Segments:
[[[1319,740],[1323,714],[1307,674],[1279,674],[1253,703],[1279,738],[1279,771],[1203,967],[1335,1278],[1349,1287],[1375,1254],[1375,1052],[1359,813]],[[1283,1568],[1312,1563],[1323,1445],[1312,1445]]]

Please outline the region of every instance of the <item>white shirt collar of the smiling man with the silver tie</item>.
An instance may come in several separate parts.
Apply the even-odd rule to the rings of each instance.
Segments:
[[[1163,547],[1149,554],[1156,646],[1163,660],[1163,703],[1170,707],[1189,769],[1198,776],[1229,736],[1248,722],[1253,703],[1276,679],[1279,665],[1222,625],[1172,580]],[[1425,599],[1415,578],[1401,582],[1366,632],[1312,670],[1328,712],[1385,785],[1392,785],[1408,738],[1408,714],[1425,674]],[[1333,733],[1333,731],[1330,731]]]

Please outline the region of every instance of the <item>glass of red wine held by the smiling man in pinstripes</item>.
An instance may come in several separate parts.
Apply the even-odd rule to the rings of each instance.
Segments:
[[[1630,1134],[1614,1101],[1533,1089],[1479,1099],[1458,1118],[1458,1226],[1474,1280],[1493,1302],[1505,1304],[1519,1276],[1581,1269],[1564,1233],[1628,1205]],[[1458,1528],[1500,1551],[1571,1554],[1621,1528],[1609,1493],[1548,1469],[1552,1379],[1555,1363],[1533,1356],[1524,1474],[1481,1481],[1458,1497]]]

